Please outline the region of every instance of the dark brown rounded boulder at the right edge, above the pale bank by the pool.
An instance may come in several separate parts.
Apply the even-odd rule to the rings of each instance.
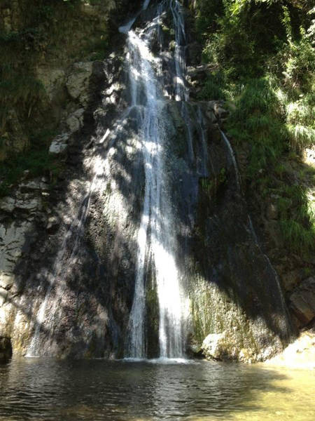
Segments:
[[[299,327],[306,326],[315,317],[315,278],[303,281],[290,295],[290,308],[295,314]]]

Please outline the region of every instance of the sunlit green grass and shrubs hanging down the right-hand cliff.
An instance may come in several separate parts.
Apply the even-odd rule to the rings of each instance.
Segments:
[[[314,169],[300,157],[315,145],[315,7],[306,0],[196,0],[203,60],[216,72],[202,99],[232,105],[226,130],[248,150],[247,193],[274,194],[283,243],[315,250]],[[294,167],[294,168],[293,168]]]

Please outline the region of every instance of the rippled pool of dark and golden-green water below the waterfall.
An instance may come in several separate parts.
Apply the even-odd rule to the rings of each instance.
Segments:
[[[315,372],[262,366],[13,359],[0,420],[315,420]]]

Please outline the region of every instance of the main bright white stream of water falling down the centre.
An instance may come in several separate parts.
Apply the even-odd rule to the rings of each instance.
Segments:
[[[176,267],[176,240],[172,206],[165,179],[165,127],[163,114],[162,59],[151,52],[151,44],[159,34],[160,16],[169,6],[174,19],[176,47],[174,52],[174,96],[188,100],[185,83],[183,41],[185,31],[181,5],[163,1],[155,19],[139,34],[128,33],[127,66],[130,78],[131,104],[142,109],[139,127],[143,139],[145,168],[144,206],[137,235],[138,255],[134,301],[129,321],[129,340],[125,355],[146,357],[144,322],[146,317],[146,268],[151,266],[159,302],[160,357],[181,358],[184,355],[183,288]],[[161,46],[160,46],[161,48]],[[184,112],[185,108],[183,108]]]

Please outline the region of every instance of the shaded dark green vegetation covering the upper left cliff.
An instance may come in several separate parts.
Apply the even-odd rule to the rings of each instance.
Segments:
[[[6,9],[12,11],[13,20],[6,20],[5,9],[0,11],[2,196],[8,194],[25,170],[31,175],[52,174],[56,170],[48,145],[59,121],[51,112],[50,99],[38,80],[36,68],[66,68],[76,60],[102,60],[106,55],[108,4],[105,0],[84,3],[104,6],[102,18],[83,13],[81,0],[18,0]],[[95,27],[91,20],[97,22]],[[34,135],[38,127],[45,128],[45,135]]]

